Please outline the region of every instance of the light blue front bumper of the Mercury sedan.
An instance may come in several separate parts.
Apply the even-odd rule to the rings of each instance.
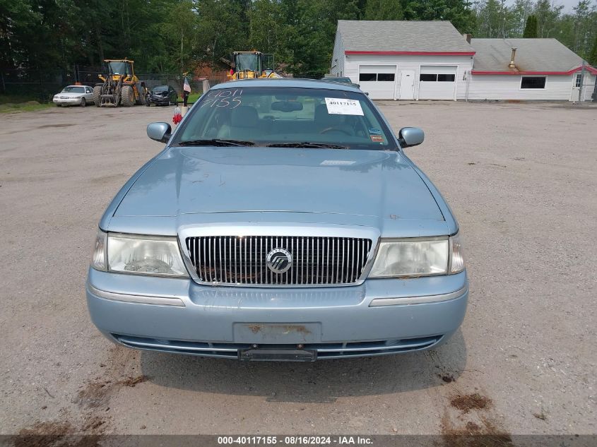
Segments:
[[[127,347],[324,359],[437,347],[463,321],[468,278],[463,272],[349,287],[212,287],[90,269],[86,290],[95,326]]]

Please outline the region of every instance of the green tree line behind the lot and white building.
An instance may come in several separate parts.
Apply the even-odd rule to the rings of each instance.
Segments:
[[[527,35],[555,37],[597,64],[595,0],[569,13],[550,0],[0,0],[0,70],[128,57],[137,71],[182,73],[258,49],[294,76],[318,77],[341,19],[450,20],[473,37],[523,37],[530,20]]]

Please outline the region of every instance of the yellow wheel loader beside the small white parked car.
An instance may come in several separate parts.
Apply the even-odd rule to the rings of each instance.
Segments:
[[[93,101],[97,107],[131,107],[146,103],[146,89],[135,76],[134,61],[106,59],[103,73],[98,77],[102,83],[93,88]]]

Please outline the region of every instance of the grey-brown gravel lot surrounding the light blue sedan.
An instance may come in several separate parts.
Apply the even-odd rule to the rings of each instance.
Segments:
[[[459,218],[468,314],[437,351],[316,364],[105,340],[84,295],[97,221],[172,108],[2,116],[0,433],[596,434],[597,109],[382,109],[427,133],[407,153]]]

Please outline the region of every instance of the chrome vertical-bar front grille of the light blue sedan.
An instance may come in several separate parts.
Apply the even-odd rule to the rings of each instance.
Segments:
[[[372,247],[371,239],[353,237],[188,237],[186,244],[199,280],[243,285],[354,284]],[[283,273],[268,266],[275,249],[290,264]]]

